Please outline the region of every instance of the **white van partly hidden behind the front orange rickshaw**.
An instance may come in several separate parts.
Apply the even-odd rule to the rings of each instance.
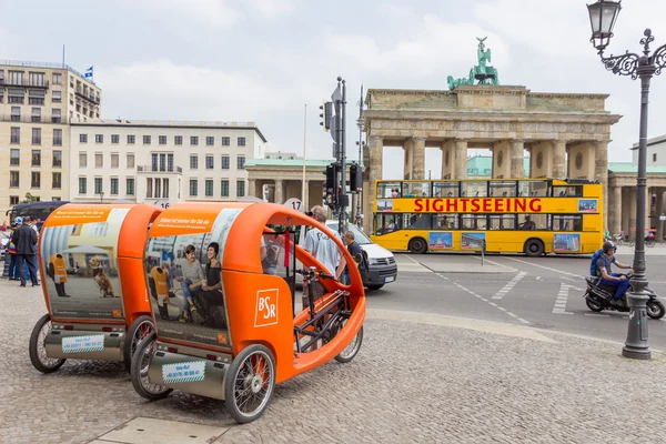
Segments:
[[[326,228],[331,231],[337,231],[337,220],[330,219],[326,221]],[[305,242],[305,226],[302,226],[301,235],[299,236],[299,245],[303,246]],[[363,285],[369,290],[380,290],[387,283],[395,282],[397,279],[397,265],[395,264],[395,258],[389,250],[373,243],[370,238],[365,235],[356,225],[350,223],[346,228],[347,231],[354,233],[354,240],[361,245],[363,251],[367,254],[369,272],[364,276]],[[297,262],[296,268],[303,265]]]

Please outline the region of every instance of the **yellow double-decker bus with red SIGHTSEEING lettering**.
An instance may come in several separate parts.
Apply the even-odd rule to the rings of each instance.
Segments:
[[[376,181],[373,242],[393,251],[594,253],[602,184],[587,180]]]

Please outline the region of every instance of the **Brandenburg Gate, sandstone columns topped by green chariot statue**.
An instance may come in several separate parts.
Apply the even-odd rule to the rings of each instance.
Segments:
[[[490,50],[483,52],[480,41],[480,64],[468,79],[450,77],[450,90],[367,91],[367,199],[363,199],[367,233],[373,230],[374,181],[382,179],[384,147],[403,148],[405,179],[426,179],[426,148],[442,150],[442,179],[465,179],[467,150],[490,149],[493,179],[523,179],[527,151],[529,178],[589,179],[607,186],[610,127],[620,119],[606,111],[608,95],[498,85],[496,70],[485,65]],[[491,74],[480,73],[482,70]],[[481,79],[482,84],[471,84],[474,79]],[[607,209],[604,192],[606,215]]]

